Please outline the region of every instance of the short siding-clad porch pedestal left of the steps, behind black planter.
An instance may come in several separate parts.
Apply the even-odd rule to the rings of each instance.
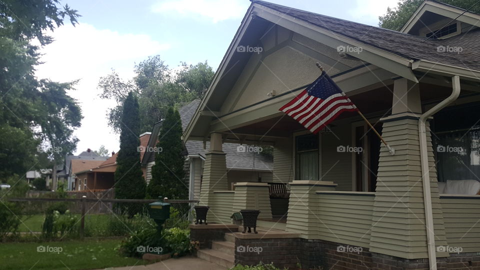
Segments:
[[[271,219],[268,184],[260,182],[237,182],[233,198],[233,212],[241,209],[260,210],[258,218]]]

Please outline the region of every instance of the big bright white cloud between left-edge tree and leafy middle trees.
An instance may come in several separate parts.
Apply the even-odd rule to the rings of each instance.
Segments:
[[[97,29],[86,23],[63,25],[49,33],[55,41],[41,49],[41,61],[35,74],[54,81],[79,79],[76,90],[69,92],[80,103],[84,118],[74,135],[80,141],[77,153],[86,148],[98,149],[103,144],[110,151],[118,150],[118,135],[107,124],[106,110],[113,100],[98,97],[100,76],[114,68],[121,77],[133,76],[134,62],[161,53],[170,45],[145,34],[119,33]]]

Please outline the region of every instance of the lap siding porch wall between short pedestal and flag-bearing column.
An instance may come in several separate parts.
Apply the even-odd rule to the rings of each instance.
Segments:
[[[368,247],[373,196],[318,194],[320,239]]]

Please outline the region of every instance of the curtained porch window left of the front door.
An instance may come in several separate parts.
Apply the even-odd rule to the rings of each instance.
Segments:
[[[318,180],[318,135],[295,137],[295,179]]]

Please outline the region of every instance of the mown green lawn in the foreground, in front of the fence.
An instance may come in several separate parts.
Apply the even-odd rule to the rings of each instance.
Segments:
[[[99,269],[150,262],[120,256],[120,240],[1,243],[0,268],[9,269]],[[38,252],[38,246],[61,252]]]

